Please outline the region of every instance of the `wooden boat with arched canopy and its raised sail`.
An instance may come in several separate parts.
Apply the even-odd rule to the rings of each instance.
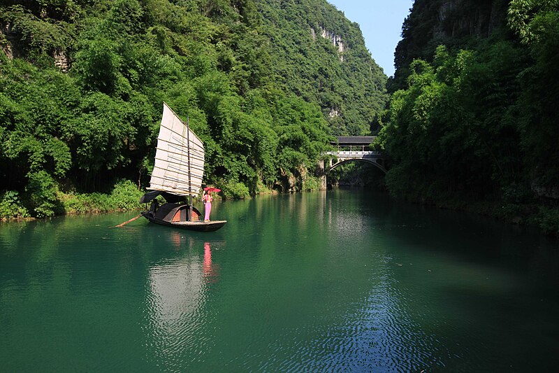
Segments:
[[[188,120],[163,103],[163,116],[157,136],[155,164],[150,178],[150,192],[140,198],[141,204],[150,204],[142,216],[152,223],[198,232],[211,232],[223,227],[227,220],[204,222],[201,213],[192,206],[192,196],[202,188],[204,173],[204,145],[192,132]],[[166,203],[157,202],[157,196]],[[187,202],[187,199],[189,201]]]

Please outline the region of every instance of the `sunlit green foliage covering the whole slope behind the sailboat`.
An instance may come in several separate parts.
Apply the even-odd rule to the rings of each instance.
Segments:
[[[145,186],[162,101],[225,197],[314,188],[331,136],[369,132],[386,98],[358,27],[324,0],[3,1],[0,26],[2,217]]]

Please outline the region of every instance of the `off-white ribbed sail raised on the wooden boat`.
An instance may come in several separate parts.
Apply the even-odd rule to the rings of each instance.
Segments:
[[[198,136],[163,103],[163,116],[155,165],[150,179],[151,190],[177,195],[198,195],[204,174],[204,145]]]

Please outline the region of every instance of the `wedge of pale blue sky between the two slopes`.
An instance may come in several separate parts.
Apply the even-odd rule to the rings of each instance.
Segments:
[[[326,0],[357,22],[372,58],[388,76],[394,75],[394,50],[402,38],[402,23],[414,0]]]

